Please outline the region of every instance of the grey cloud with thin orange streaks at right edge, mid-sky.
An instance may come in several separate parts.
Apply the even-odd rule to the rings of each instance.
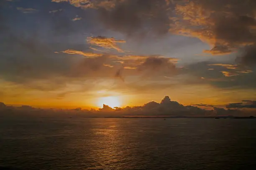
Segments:
[[[246,67],[241,65],[207,61],[185,65],[182,74],[189,75],[188,84],[195,82],[196,84],[208,84],[222,89],[255,89],[256,70],[245,69]]]

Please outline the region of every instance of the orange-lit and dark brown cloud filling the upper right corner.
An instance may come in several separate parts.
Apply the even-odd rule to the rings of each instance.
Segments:
[[[177,20],[171,31],[209,43],[215,55],[229,54],[255,44],[256,2],[233,0],[190,0],[176,6]]]

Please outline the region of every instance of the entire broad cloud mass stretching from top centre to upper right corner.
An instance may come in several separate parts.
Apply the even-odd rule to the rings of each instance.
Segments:
[[[256,43],[256,2],[247,0],[52,0],[94,8],[101,22],[128,35],[147,32],[197,37],[207,42],[204,52],[223,55]],[[247,49],[246,49],[247,50]],[[245,52],[245,55],[251,50]],[[255,57],[247,55],[243,63]]]

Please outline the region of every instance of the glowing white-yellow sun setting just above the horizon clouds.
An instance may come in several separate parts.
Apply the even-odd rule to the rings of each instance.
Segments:
[[[108,105],[112,108],[120,107],[121,105],[120,97],[117,97],[117,96],[100,97],[98,99],[97,105],[98,107],[102,107],[103,104]]]

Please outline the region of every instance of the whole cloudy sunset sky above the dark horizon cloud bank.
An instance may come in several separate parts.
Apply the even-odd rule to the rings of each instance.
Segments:
[[[0,44],[8,105],[256,100],[255,0],[1,0]]]

